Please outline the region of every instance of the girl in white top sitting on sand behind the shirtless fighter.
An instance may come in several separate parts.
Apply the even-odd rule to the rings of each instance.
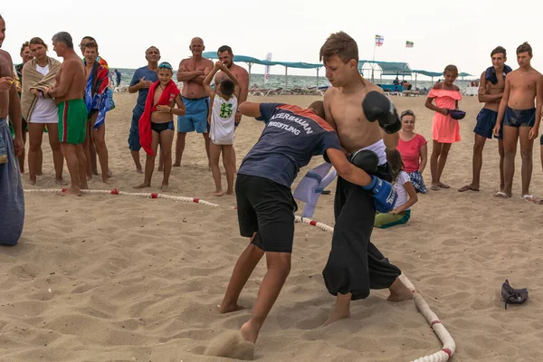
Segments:
[[[390,213],[376,214],[374,226],[380,229],[406,224],[411,217],[411,206],[418,201],[411,179],[404,171],[404,161],[402,161],[400,151],[397,149],[393,151],[387,149],[386,161],[390,166],[393,180],[392,185],[395,188],[398,198],[396,199],[394,210]]]

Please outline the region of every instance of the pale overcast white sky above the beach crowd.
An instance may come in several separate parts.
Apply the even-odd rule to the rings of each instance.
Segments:
[[[112,68],[145,65],[144,52],[156,45],[162,61],[178,64],[189,56],[194,36],[205,40],[206,51],[232,46],[234,54],[273,61],[319,62],[319,48],[329,33],[344,31],[358,43],[360,59],[372,59],[375,35],[385,43],[376,60],[408,62],[413,69],[443,71],[452,63],[459,71],[480,75],[491,65],[490,53],[504,46],[509,64],[517,68],[515,49],[528,41],[532,65],[543,71],[543,5],[528,0],[516,6],[501,0],[390,0],[364,2],[234,0],[165,1],[110,0],[100,6],[65,0],[3,0],[6,22],[3,49],[20,62],[20,46],[33,36],[51,43],[54,33],[71,33],[79,44],[95,37],[100,55]],[[405,49],[405,41],[414,48]],[[52,48],[52,47],[51,47]],[[78,51],[79,52],[79,51]],[[52,49],[50,55],[56,56]],[[243,65],[243,64],[241,64]],[[252,72],[263,72],[253,66]],[[283,74],[275,66],[272,74]],[[315,71],[290,69],[290,74]],[[321,70],[321,74],[322,70]]]

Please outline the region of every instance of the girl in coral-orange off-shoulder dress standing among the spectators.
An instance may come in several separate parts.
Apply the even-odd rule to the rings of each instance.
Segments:
[[[454,142],[460,141],[460,125],[458,120],[451,118],[451,110],[458,110],[458,101],[462,100],[460,89],[453,83],[458,77],[458,69],[454,65],[447,65],[443,71],[444,80],[435,83],[428,93],[426,108],[433,110],[432,138],[433,149],[430,157],[430,171],[432,172],[432,189],[437,191],[450,186],[441,182],[443,168],[447,162],[447,155]],[[432,101],[435,101],[433,105]]]

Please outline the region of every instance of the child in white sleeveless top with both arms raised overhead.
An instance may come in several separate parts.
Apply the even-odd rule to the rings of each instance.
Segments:
[[[224,79],[219,83],[217,89],[212,90],[211,81],[217,71],[224,71],[230,79]],[[215,184],[215,191],[211,195],[224,195],[221,185],[221,169],[219,168],[221,152],[223,153],[223,165],[228,183],[226,194],[233,195],[232,145],[235,111],[238,108],[238,97],[235,94],[239,94],[240,84],[223,62],[216,62],[213,71],[207,74],[203,85],[211,100],[211,114],[208,119],[210,123],[209,138],[211,139],[209,163]]]

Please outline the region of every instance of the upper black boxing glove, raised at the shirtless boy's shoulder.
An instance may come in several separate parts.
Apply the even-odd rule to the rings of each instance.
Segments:
[[[378,120],[379,126],[386,133],[392,134],[402,129],[402,122],[394,104],[383,93],[376,90],[367,92],[362,100],[362,110],[370,122]]]

